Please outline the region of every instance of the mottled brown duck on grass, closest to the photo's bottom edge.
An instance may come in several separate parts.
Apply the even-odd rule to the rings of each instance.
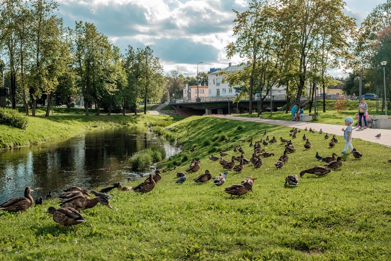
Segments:
[[[56,209],[49,207],[45,213],[53,214],[53,220],[63,226],[72,226],[86,222],[86,219],[74,208],[64,207]]]

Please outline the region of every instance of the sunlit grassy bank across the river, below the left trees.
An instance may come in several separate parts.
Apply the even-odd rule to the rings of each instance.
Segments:
[[[74,110],[77,113],[78,110],[82,109]],[[68,113],[72,114],[71,112],[69,111]],[[96,128],[136,124],[164,127],[174,122],[174,118],[170,116],[150,116],[143,114],[137,116],[90,115],[88,117],[85,115],[54,115],[50,117],[26,117],[26,119],[28,119],[28,123],[25,130],[0,124],[0,149],[30,146],[47,141],[69,138],[78,133]]]

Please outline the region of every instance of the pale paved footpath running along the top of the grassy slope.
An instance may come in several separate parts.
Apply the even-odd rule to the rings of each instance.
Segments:
[[[343,136],[344,132],[342,131],[342,128],[345,127],[341,123],[341,125],[333,125],[333,124],[326,124],[326,123],[312,123],[312,122],[306,122],[306,121],[287,121],[287,120],[279,120],[279,119],[260,119],[260,118],[245,118],[245,117],[235,117],[235,116],[228,116],[224,117],[225,119],[235,119],[235,120],[242,120],[242,121],[253,121],[253,122],[260,122],[265,124],[273,124],[273,125],[281,125],[281,126],[287,126],[287,127],[296,127],[299,129],[307,129],[312,128],[315,129],[315,131],[319,131],[322,129],[322,131],[326,134],[335,134]],[[375,135],[381,133],[380,139],[376,139]],[[389,129],[359,129],[357,127],[353,127],[353,139],[361,139],[368,142],[374,142],[383,144],[386,146],[391,147],[391,130]]]

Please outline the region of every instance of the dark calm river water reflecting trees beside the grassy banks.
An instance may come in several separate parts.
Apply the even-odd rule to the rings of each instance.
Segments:
[[[34,190],[31,195],[36,199],[45,198],[49,190],[57,195],[70,186],[94,189],[140,179],[152,170],[134,172],[127,160],[153,146],[164,146],[167,157],[179,152],[156,134],[137,128],[93,131],[41,147],[0,151],[0,204],[23,196],[25,187]]]

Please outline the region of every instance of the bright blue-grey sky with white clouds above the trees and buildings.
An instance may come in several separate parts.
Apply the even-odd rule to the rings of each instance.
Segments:
[[[357,25],[373,8],[386,0],[345,0],[345,14]],[[233,10],[247,9],[247,0],[57,0],[58,17],[64,25],[76,21],[92,23],[98,32],[126,53],[149,45],[164,67],[195,76],[198,71],[225,68],[242,62],[239,56],[228,59],[225,47],[235,41]],[[343,76],[340,69],[329,72]]]

